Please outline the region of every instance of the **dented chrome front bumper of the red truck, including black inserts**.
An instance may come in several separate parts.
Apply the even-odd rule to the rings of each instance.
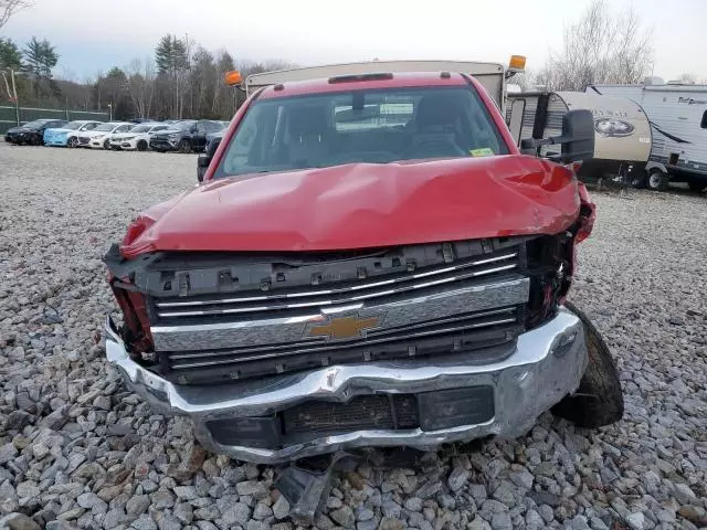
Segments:
[[[177,385],[130,359],[115,325],[106,320],[106,354],[128,386],[168,415],[194,422],[198,439],[234,458],[277,464],[370,446],[431,449],[488,435],[517,437],[579,386],[588,362],[580,319],[566,308],[518,336],[500,361],[483,352],[445,358],[330,365],[317,370],[217,385]],[[314,431],[288,437],[278,414],[310,402],[350,403],[361,396],[411,396],[414,428]],[[365,410],[365,407],[363,407]],[[317,409],[314,409],[316,412]],[[327,409],[318,409],[328,413]],[[310,412],[312,414],[312,412]],[[393,413],[394,415],[394,413]],[[316,422],[317,415],[309,417]]]

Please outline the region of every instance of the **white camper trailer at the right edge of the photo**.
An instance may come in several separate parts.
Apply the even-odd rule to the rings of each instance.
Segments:
[[[693,191],[707,188],[707,85],[647,77],[641,85],[590,85],[587,93],[631,98],[648,117],[653,148],[641,184],[664,190],[677,181]]]

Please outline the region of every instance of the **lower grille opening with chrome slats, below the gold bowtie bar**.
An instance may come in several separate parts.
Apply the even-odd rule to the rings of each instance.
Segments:
[[[496,361],[494,350],[517,336],[521,306],[440,318],[413,326],[369,331],[347,341],[299,340],[220,350],[160,352],[166,375],[180,384],[229,381],[292,372],[335,363],[420,358],[492,348],[478,362]]]

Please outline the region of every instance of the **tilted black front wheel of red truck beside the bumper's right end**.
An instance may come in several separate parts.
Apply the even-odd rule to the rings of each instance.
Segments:
[[[552,414],[580,427],[597,428],[615,423],[623,417],[623,393],[609,347],[587,315],[569,301],[566,306],[584,327],[589,365],[576,395],[568,395],[555,405]]]

